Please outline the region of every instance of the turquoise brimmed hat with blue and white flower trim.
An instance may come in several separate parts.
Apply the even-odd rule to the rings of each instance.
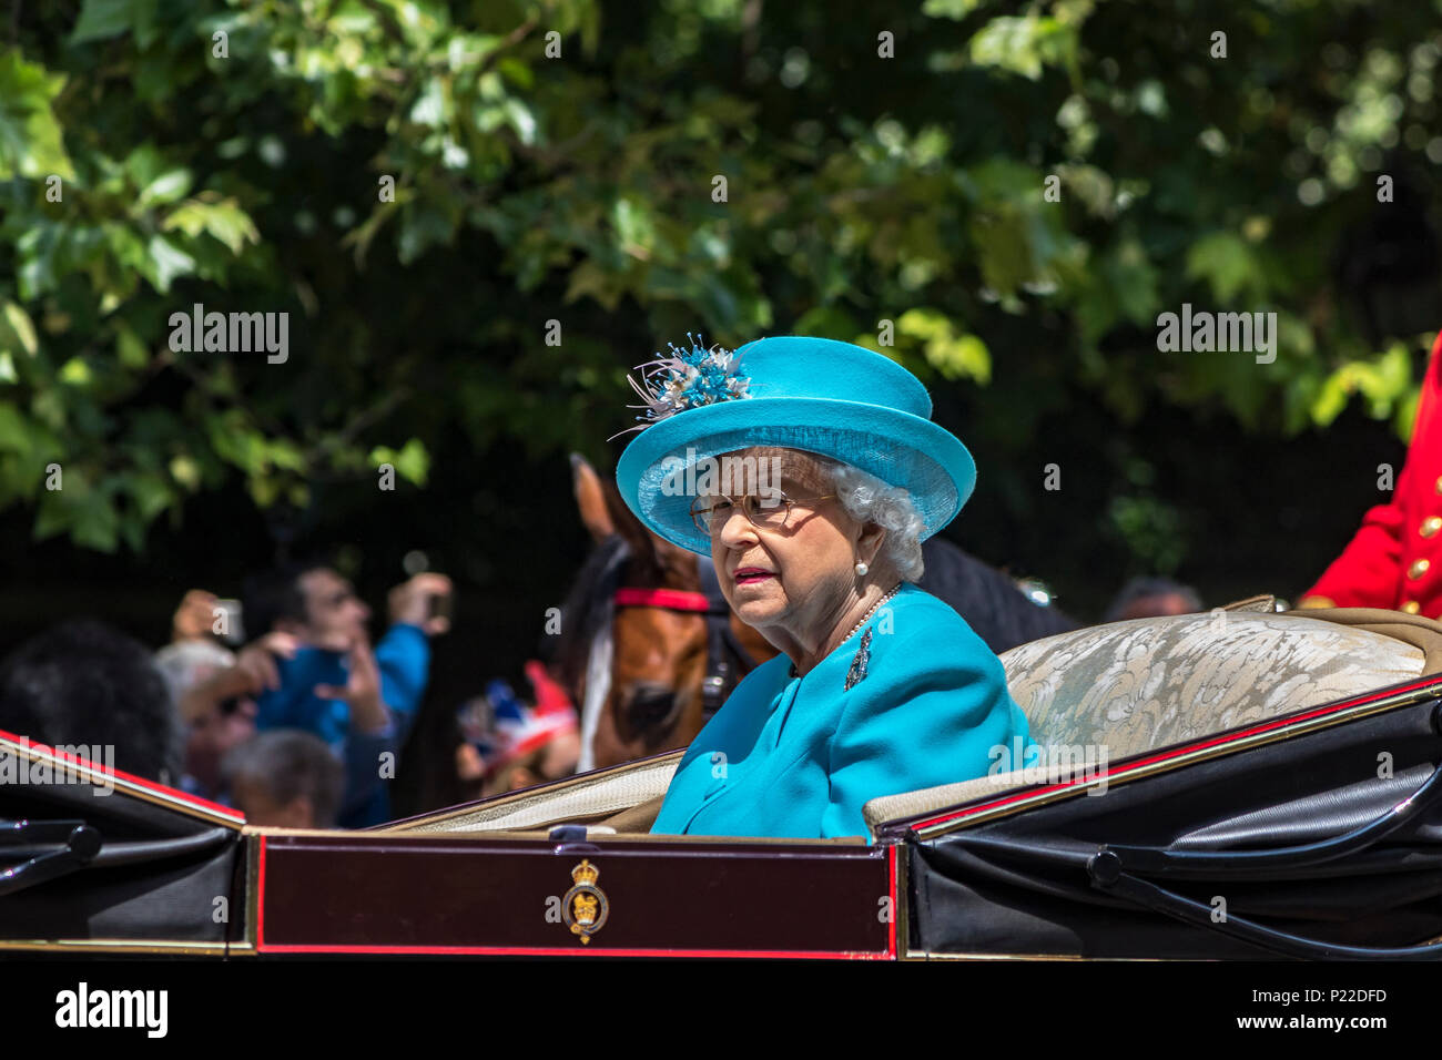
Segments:
[[[695,496],[675,487],[678,470],[751,446],[819,453],[906,489],[926,524],[923,541],[972,495],[972,454],[932,423],[921,381],[881,353],[803,336],[757,339],[734,353],[695,340],[671,349],[630,381],[646,423],[633,428],[640,434],[622,453],[616,483],[636,516],[675,545],[711,554],[691,519]]]

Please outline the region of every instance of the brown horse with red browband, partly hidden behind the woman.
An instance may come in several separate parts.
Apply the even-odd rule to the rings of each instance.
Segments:
[[[656,536],[578,454],[571,480],[593,549],[561,609],[555,666],[581,705],[578,772],[688,746],[737,682],[777,652],[735,617],[708,557]],[[998,570],[932,536],[920,588],[994,652],[1076,629]]]

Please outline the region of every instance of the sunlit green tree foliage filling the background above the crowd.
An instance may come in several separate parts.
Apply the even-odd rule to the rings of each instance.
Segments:
[[[0,506],[140,549],[232,476],[303,508],[497,438],[598,453],[688,330],[884,349],[1002,451],[1079,395],[1403,428],[1419,336],[1367,336],[1331,261],[1379,176],[1433,190],[1436,12],[1223,7],[17,6]],[[1276,361],[1158,353],[1184,301],[1278,312]],[[172,350],[195,303],[290,313],[288,361]],[[1138,541],[1145,508],[1112,505]]]

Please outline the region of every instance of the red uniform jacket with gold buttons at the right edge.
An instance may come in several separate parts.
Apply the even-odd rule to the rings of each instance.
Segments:
[[[1337,607],[1386,607],[1442,614],[1442,333],[1422,379],[1407,461],[1392,500],[1363,516],[1361,529],[1306,596]]]

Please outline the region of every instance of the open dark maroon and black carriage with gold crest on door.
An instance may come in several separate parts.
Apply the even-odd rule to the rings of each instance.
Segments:
[[[1002,661],[1043,759],[852,839],[650,835],[681,751],[300,832],[4,737],[75,776],[0,785],[0,949],[1442,956],[1442,623],[1260,597]]]

